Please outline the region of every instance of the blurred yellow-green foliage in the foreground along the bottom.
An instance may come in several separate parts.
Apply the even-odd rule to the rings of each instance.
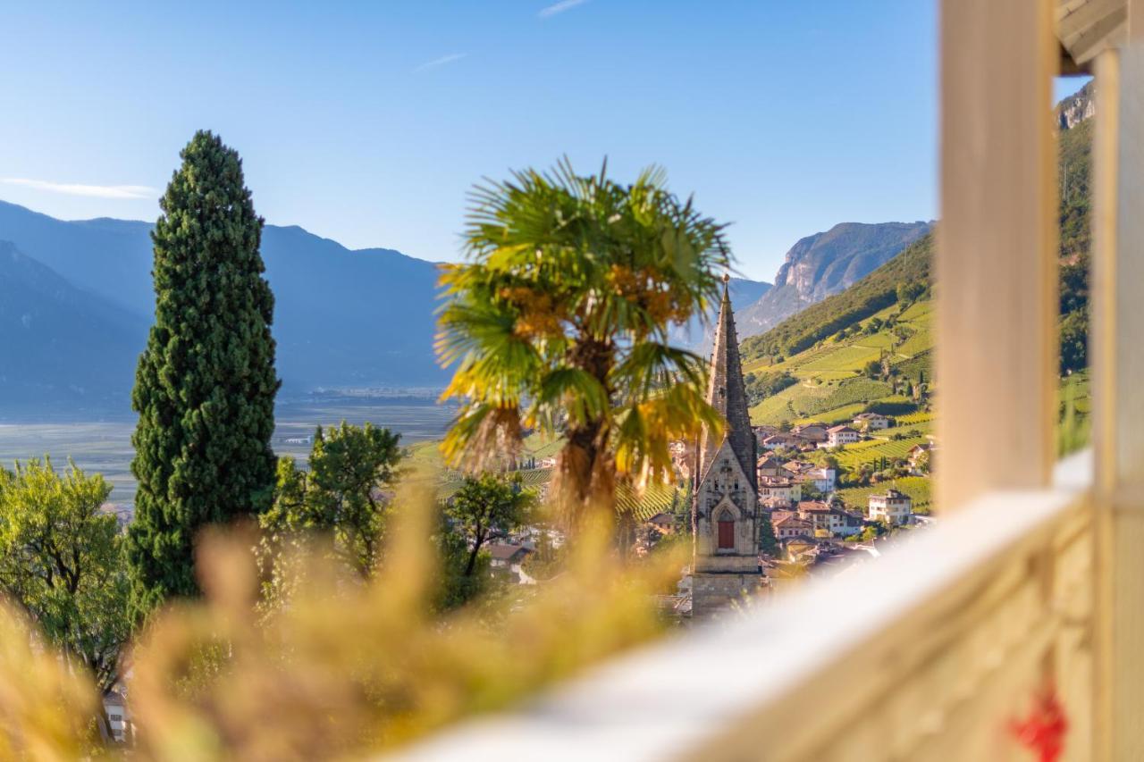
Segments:
[[[260,601],[253,526],[201,538],[204,598],[158,612],[132,654],[133,757],[360,759],[505,707],[666,626],[652,594],[677,577],[683,558],[633,564],[602,518],[586,521],[574,546],[562,548],[548,582],[443,612],[439,505],[410,487],[392,513],[372,578],[317,539],[287,548],[293,558],[281,569],[302,570],[288,605]],[[32,651],[6,610],[0,749],[72,759],[87,738],[77,717],[90,716],[95,693],[49,652]]]

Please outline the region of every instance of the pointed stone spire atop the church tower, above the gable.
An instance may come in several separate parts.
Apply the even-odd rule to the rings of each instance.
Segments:
[[[712,350],[710,378],[707,383],[707,402],[726,419],[725,437],[742,470],[757,491],[755,476],[755,435],[750,430],[750,412],[747,410],[747,390],[742,381],[742,362],[739,358],[739,339],[734,331],[734,311],[731,309],[730,280],[723,276],[723,301],[715,323],[715,347]],[[723,443],[723,437],[704,430],[699,440],[699,478],[702,478]]]

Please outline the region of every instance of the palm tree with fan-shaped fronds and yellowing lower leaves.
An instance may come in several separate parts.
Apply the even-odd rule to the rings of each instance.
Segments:
[[[668,330],[720,297],[724,225],[665,188],[554,169],[478,185],[466,261],[445,265],[437,352],[462,400],[442,445],[453,465],[514,457],[522,428],[563,434],[551,493],[570,524],[613,506],[618,479],[670,477],[668,445],[707,423],[706,364]]]

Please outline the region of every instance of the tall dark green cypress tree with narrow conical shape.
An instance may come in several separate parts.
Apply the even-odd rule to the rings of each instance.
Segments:
[[[273,295],[263,278],[263,221],[238,153],[199,132],[160,201],[154,326],[132,407],[138,479],[129,529],[132,604],[142,617],[193,596],[193,542],[207,524],[257,515],[275,485]]]

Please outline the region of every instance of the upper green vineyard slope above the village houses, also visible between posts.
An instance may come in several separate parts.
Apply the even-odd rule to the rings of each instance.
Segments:
[[[1059,137],[1060,373],[1088,356],[1089,176],[1093,125]],[[845,420],[889,400],[906,381],[931,380],[934,235],[906,247],[853,286],[741,343],[758,423],[808,416]],[[882,365],[873,372],[873,365]],[[872,376],[882,387],[872,387]]]

